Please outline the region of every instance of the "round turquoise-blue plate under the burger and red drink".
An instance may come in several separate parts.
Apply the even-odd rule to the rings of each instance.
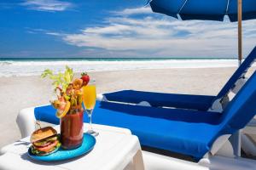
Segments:
[[[63,161],[72,159],[77,156],[82,156],[90,150],[93,149],[94,145],[96,144],[96,139],[94,136],[90,135],[89,133],[84,133],[84,140],[82,145],[74,150],[63,150],[60,148],[59,150],[55,151],[54,153],[48,156],[35,156],[32,154],[31,147],[28,149],[27,153],[34,160],[38,161]]]

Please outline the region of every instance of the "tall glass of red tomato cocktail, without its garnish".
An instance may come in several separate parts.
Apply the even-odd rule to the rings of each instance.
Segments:
[[[78,148],[84,139],[84,111],[69,111],[61,117],[61,147],[65,150]]]

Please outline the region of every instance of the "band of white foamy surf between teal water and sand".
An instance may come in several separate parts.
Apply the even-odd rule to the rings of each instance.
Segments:
[[[9,64],[0,61],[0,77],[37,76],[45,69],[63,71],[65,65],[74,72],[162,70],[189,68],[226,68],[236,67],[236,59],[187,59],[187,60],[133,60],[133,61],[14,61]],[[254,65],[256,66],[256,64]]]

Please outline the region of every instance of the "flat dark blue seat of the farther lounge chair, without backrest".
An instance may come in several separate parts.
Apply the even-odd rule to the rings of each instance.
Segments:
[[[155,92],[143,92],[136,90],[123,90],[104,94],[109,101],[119,101],[138,104],[147,101],[154,107],[176,107],[198,111],[207,111],[216,96],[189,95],[189,94],[163,94]]]

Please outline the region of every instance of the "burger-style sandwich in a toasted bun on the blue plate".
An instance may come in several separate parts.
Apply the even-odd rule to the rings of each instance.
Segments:
[[[35,156],[47,156],[61,147],[59,136],[53,127],[44,127],[32,133],[31,151]]]

